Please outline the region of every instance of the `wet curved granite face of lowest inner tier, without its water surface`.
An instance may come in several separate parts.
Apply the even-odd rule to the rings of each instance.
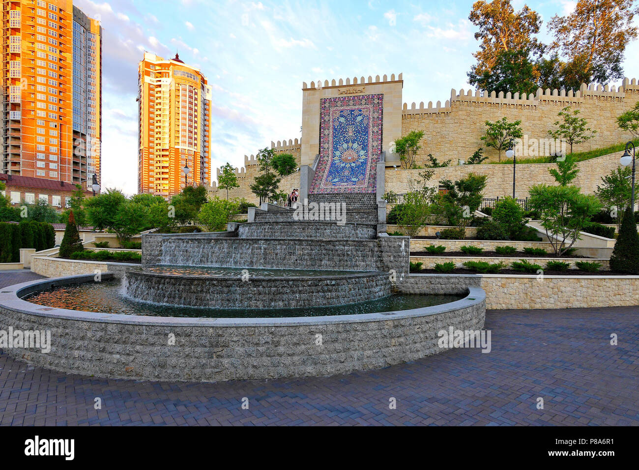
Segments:
[[[208,308],[307,308],[390,295],[387,272],[297,278],[210,278],[127,272],[127,295],[162,304]]]

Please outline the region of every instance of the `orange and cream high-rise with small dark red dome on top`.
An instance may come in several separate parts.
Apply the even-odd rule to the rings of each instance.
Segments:
[[[168,199],[185,187],[185,176],[187,185],[210,185],[211,88],[206,77],[178,54],[163,59],[144,52],[138,85],[138,192]]]

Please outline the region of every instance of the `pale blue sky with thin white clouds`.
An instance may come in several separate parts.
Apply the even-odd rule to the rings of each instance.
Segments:
[[[404,102],[470,88],[472,0],[75,0],[102,21],[102,186],[137,191],[137,63],[144,51],[200,68],[213,87],[212,176],[271,141],[300,138],[302,82],[399,74]],[[574,1],[527,2],[546,23]],[[524,2],[514,0],[516,10]],[[626,49],[639,78],[639,45]]]

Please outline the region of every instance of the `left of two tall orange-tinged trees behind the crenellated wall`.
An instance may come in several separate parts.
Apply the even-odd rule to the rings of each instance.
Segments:
[[[475,39],[480,41],[479,51],[473,54],[477,63],[468,72],[470,84],[479,85],[484,74],[490,74],[500,60],[502,70],[508,68],[506,62],[511,61],[515,66],[521,60],[521,54],[504,56],[504,52],[527,51],[527,56],[543,52],[543,45],[535,37],[541,27],[541,17],[528,6],[515,12],[511,0],[476,1],[468,19],[479,27]]]

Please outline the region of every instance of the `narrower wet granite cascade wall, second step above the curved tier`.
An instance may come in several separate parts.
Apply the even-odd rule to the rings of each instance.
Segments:
[[[240,225],[240,238],[373,240],[377,225],[371,223],[338,225],[335,222],[253,222]]]

